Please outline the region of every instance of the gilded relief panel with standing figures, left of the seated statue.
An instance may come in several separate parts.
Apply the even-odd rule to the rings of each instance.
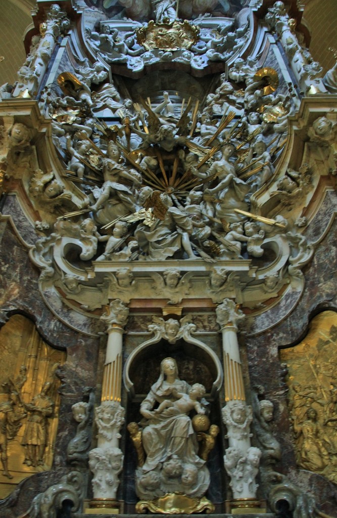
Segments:
[[[0,498],[31,473],[51,468],[65,352],[52,349],[34,323],[13,315],[0,331]]]

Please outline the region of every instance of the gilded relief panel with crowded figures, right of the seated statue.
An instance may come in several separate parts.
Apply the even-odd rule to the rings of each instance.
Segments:
[[[283,349],[298,466],[337,483],[337,313],[311,322],[305,339]]]

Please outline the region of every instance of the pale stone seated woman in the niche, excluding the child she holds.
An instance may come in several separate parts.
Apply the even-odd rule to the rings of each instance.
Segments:
[[[148,486],[156,482],[153,496],[181,491],[184,472],[188,469],[195,473],[195,477],[185,493],[202,496],[207,491],[209,471],[204,466],[205,461],[198,456],[198,441],[189,411],[174,406],[174,402],[188,394],[189,389],[191,386],[178,377],[175,360],[163,359],[160,376],[140,405],[140,413],[145,418],[141,424],[144,426],[142,443],[146,453],[145,463],[136,476],[140,497],[144,497],[142,479]],[[170,407],[169,411],[156,412],[156,407],[163,401]]]

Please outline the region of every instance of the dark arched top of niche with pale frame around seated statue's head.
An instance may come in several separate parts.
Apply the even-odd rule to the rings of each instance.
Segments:
[[[218,356],[206,343],[185,335],[169,343],[158,335],[141,343],[127,358],[123,381],[134,399],[141,399],[159,377],[160,362],[171,356],[177,361],[179,377],[189,384],[202,383],[216,397],[223,384],[223,369]]]

